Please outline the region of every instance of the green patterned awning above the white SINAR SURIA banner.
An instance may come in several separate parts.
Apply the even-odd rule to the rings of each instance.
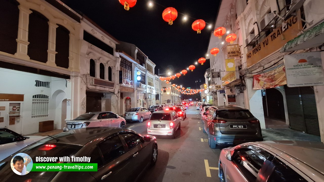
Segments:
[[[318,47],[324,43],[324,22],[307,30],[293,40],[287,42],[281,52],[297,51]]]

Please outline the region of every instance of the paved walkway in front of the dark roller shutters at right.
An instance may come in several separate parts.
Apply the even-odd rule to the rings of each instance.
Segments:
[[[263,140],[321,141],[319,136],[291,129],[262,129]]]

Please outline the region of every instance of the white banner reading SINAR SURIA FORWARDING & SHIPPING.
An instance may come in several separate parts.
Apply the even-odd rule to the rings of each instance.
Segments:
[[[319,51],[285,55],[284,65],[288,87],[324,85],[324,71]]]

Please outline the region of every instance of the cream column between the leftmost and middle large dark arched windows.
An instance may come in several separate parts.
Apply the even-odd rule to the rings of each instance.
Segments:
[[[19,23],[18,23],[18,37],[17,41],[17,52],[15,56],[29,60],[28,52],[28,25],[29,25],[29,14],[32,13],[28,8],[21,5],[19,8]]]

